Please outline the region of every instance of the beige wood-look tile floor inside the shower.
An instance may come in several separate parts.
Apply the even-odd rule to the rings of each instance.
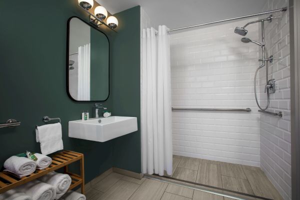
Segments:
[[[259,167],[173,155],[171,176],[275,200],[282,199]]]

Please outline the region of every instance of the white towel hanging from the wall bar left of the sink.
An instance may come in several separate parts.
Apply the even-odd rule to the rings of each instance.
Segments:
[[[35,133],[36,142],[40,143],[40,150],[42,154],[47,155],[63,149],[60,123],[36,126]]]

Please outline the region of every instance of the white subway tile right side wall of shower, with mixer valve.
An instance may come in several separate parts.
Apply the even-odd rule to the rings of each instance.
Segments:
[[[288,6],[287,0],[268,0],[263,8],[271,10]],[[269,55],[281,57],[268,66],[268,79],[276,79],[276,92],[270,94],[269,111],[283,117],[260,114],[260,167],[284,199],[291,199],[290,166],[290,71],[288,9],[274,13],[271,23],[265,24],[265,42]],[[265,67],[259,75],[260,103],[265,105]]]

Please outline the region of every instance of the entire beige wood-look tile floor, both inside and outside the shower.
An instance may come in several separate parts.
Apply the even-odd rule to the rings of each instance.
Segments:
[[[173,156],[173,177],[282,200],[259,167]],[[87,200],[232,200],[153,179],[106,171],[86,186]]]

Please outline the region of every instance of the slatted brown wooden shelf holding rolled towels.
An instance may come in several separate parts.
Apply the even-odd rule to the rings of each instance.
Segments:
[[[83,154],[70,151],[70,150],[63,150],[62,152],[55,153],[50,156],[52,158],[52,163],[49,167],[45,169],[36,169],[30,175],[24,176],[19,178],[13,173],[8,171],[1,171],[0,172],[0,193],[3,193],[9,189],[12,189],[16,186],[34,180],[40,176],[43,176],[51,171],[57,170],[59,168],[64,169],[64,173],[70,175],[72,181],[69,189],[73,189],[74,187],[80,185],[81,193],[84,193],[84,159]],[[73,163],[75,161],[80,161],[80,175],[74,174],[68,171],[67,165]]]

